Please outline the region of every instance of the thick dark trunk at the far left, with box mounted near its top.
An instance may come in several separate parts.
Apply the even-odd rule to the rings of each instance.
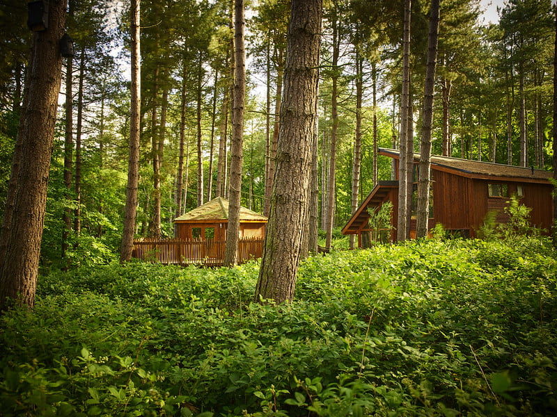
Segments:
[[[46,31],[31,38],[22,113],[0,233],[0,310],[8,298],[32,307],[45,220],[47,183],[54,143],[65,28],[66,1],[50,1]]]

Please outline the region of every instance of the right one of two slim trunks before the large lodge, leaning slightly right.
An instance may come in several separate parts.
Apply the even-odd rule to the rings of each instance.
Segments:
[[[432,0],[430,8],[430,32],[427,37],[427,63],[425,67],[425,85],[423,93],[423,121],[420,146],[420,169],[418,172],[416,238],[427,236],[427,220],[430,212],[431,131],[433,122],[433,94],[435,86],[435,63],[437,62],[438,33],[439,0]]]

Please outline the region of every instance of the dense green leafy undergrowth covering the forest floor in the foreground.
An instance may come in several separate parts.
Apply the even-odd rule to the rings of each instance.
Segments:
[[[314,256],[296,300],[258,264],[40,277],[0,318],[3,416],[557,415],[557,256],[428,240]]]

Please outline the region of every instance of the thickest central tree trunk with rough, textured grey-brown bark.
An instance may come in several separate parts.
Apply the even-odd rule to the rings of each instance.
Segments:
[[[292,301],[308,213],[322,0],[292,0],[271,211],[255,300]]]

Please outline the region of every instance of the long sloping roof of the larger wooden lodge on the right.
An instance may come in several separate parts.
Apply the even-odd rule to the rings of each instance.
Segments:
[[[398,159],[400,151],[398,149],[379,148],[379,154]],[[420,154],[414,154],[414,161],[420,160]],[[514,165],[503,165],[501,163],[491,163],[483,161],[471,161],[469,159],[452,158],[448,156],[431,157],[432,169],[452,172],[462,177],[493,178],[501,179],[520,179],[532,182],[547,182],[553,176],[552,172],[536,170],[533,167],[517,167]]]

